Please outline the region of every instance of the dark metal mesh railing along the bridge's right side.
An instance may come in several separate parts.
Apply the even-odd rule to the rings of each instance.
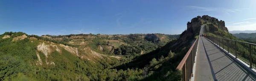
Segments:
[[[206,38],[250,65],[250,68],[256,67],[256,44],[213,36],[206,36]]]

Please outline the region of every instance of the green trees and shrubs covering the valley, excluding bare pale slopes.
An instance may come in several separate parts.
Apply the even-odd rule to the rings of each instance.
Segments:
[[[114,49],[117,52],[113,52],[113,54],[124,56],[121,60],[103,57],[103,59],[92,62],[87,59],[76,57],[65,49],[61,49],[61,53],[53,51],[48,55],[48,58],[41,51],[37,50],[38,44],[44,41],[61,43],[78,48],[81,47],[79,45],[68,43],[73,40],[68,36],[60,36],[63,40],[58,41],[37,35],[27,35],[28,38],[13,41],[15,37],[24,34],[27,35],[23,32],[6,32],[3,35],[0,35],[1,81],[148,81],[152,79],[169,81],[180,78],[177,76],[180,75],[180,73],[175,71],[175,65],[178,64],[177,57],[179,57],[179,55],[172,51],[159,55],[152,54],[153,57],[148,57],[149,61],[145,61],[145,65],[142,67],[116,68],[116,66],[128,63],[134,58],[142,57],[140,56],[142,50],[150,52],[164,46],[164,44],[169,41],[148,41],[136,37],[123,38],[123,40],[126,40],[124,43],[127,44],[115,47]],[[10,35],[10,38],[3,38],[5,35]],[[171,37],[172,35],[169,36]],[[87,46],[91,46],[93,50],[97,50],[98,46],[111,46],[112,44],[109,41],[105,41],[104,38],[84,40],[89,41]],[[102,54],[112,54],[105,51],[99,52]],[[38,63],[38,56],[36,53],[39,53],[43,62],[42,65],[36,64]],[[48,65],[47,61],[52,61],[55,65]]]

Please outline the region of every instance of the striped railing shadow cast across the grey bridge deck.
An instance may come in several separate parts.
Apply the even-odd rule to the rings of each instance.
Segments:
[[[256,76],[253,73],[230,58],[213,43],[208,44],[211,42],[205,38],[201,38],[201,40],[215,81],[256,81]],[[206,48],[206,45],[210,48]]]

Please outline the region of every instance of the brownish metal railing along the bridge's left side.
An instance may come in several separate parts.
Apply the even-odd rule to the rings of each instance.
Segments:
[[[193,45],[190,47],[189,51],[186,53],[185,57],[182,59],[176,70],[182,71],[182,81],[189,81],[193,76],[193,65],[195,63],[195,55],[198,47],[198,38],[195,40]]]

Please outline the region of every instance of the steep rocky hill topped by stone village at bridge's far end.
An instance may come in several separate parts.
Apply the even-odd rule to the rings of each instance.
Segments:
[[[206,24],[207,32],[215,35],[224,35],[228,33],[227,27],[225,27],[225,22],[218,20],[215,17],[208,15],[196,16],[187,23],[187,29],[182,32],[180,38],[172,43],[172,51],[180,51],[179,48],[184,48],[191,45],[195,41],[195,36],[199,35],[201,25]]]

